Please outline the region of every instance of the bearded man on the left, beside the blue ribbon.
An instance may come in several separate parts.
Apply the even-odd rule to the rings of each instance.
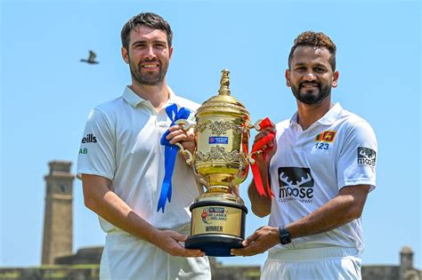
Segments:
[[[132,84],[121,97],[94,108],[85,126],[77,177],[85,205],[99,215],[107,233],[101,279],[211,278],[204,253],[183,247],[191,228],[189,206],[199,189],[182,156],[174,164],[171,203],[163,212],[157,209],[165,176],[162,135],[168,129],[171,144],[194,147],[191,132],[170,127],[173,116],[166,115],[166,108],[199,108],[166,84],[172,36],[166,20],[154,13],[141,13],[126,23],[122,57]]]

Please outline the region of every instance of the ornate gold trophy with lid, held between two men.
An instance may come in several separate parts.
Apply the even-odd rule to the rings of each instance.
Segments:
[[[198,109],[196,124],[183,124],[183,129],[195,127],[196,148],[193,155],[187,150],[188,164],[200,178],[207,192],[191,205],[191,237],[185,242],[189,249],[200,249],[208,256],[231,256],[231,248],[242,247],[245,238],[245,218],[248,208],[233,194],[248,176],[249,130],[247,109],[231,96],[230,72],[223,69],[218,95],[205,101]],[[182,147],[180,145],[179,147]]]

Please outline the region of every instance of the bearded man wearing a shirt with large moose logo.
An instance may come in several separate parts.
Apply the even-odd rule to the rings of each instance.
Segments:
[[[248,188],[252,211],[270,214],[269,226],[232,253],[269,250],[261,276],[266,280],[360,279],[361,212],[376,184],[375,134],[361,117],[331,103],[336,45],[325,34],[307,31],[296,38],[286,81],[297,112],[256,135],[258,141],[276,133],[264,146],[267,163],[264,156],[257,161],[266,196],[254,182]]]

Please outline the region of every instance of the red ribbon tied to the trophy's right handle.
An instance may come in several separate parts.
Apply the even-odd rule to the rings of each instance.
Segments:
[[[261,121],[261,123],[259,123],[259,126],[261,127],[260,131],[262,131],[264,128],[266,127],[271,127],[272,126],[272,122],[270,121],[270,119],[268,117],[265,117],[264,120]],[[261,140],[257,141],[254,146],[252,146],[252,151],[251,153],[254,152],[258,152],[258,151],[262,151],[263,156],[264,156],[264,164],[265,164],[265,172],[267,172],[268,170],[268,166],[267,166],[267,152],[265,150],[263,150],[264,145],[267,145],[268,143],[272,142],[272,140],[275,137],[275,133],[273,132],[269,132],[264,138],[262,138]],[[256,163],[256,153],[253,154],[252,159],[255,160],[254,164],[251,164],[251,169],[252,169],[252,174],[254,175],[254,180],[255,180],[255,185],[256,185],[256,190],[258,191],[258,194],[261,196],[267,196],[264,190],[264,186],[263,186],[263,179],[261,178],[261,173],[259,172],[259,168],[258,168],[258,164]],[[268,194],[270,194],[271,196],[274,196],[274,194],[272,193],[272,190],[270,188],[270,184],[268,181],[268,176],[267,176],[267,192]]]

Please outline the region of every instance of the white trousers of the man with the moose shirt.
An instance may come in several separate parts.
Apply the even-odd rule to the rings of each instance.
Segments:
[[[361,279],[361,258],[354,248],[319,247],[269,252],[262,280]]]

